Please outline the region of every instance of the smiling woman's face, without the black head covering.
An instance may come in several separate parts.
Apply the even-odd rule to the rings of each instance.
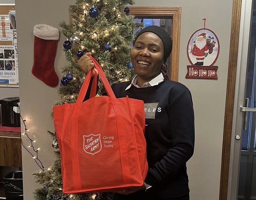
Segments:
[[[159,75],[164,63],[164,44],[155,33],[142,33],[133,46],[131,61],[138,78],[145,82]]]

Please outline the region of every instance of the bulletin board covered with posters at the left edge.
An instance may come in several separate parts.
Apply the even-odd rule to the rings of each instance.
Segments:
[[[19,87],[14,4],[0,4],[0,87]]]

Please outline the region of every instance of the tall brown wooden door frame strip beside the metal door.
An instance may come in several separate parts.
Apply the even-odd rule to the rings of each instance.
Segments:
[[[230,143],[233,120],[233,108],[235,97],[236,83],[236,65],[238,54],[238,38],[240,31],[240,16],[241,16],[242,0],[233,0],[231,38],[229,49],[228,62],[228,81],[226,92],[226,106],[224,118],[223,144],[222,144],[222,159],[220,173],[220,200],[227,200],[228,194],[228,170],[230,161]]]

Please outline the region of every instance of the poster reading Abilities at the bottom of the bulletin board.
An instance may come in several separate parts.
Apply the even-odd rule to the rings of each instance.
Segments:
[[[18,84],[15,47],[0,46],[0,84]]]

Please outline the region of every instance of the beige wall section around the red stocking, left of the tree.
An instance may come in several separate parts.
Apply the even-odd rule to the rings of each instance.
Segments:
[[[33,28],[36,24],[48,24],[56,28],[60,20],[69,21],[68,6],[70,0],[23,0],[15,2],[17,16],[17,45],[19,48],[19,81],[20,81],[20,110],[23,118],[31,117],[26,125],[31,133],[31,138],[36,140],[36,148],[40,147],[38,157],[45,167],[52,163],[53,148],[52,139],[46,134],[47,130],[53,131],[54,126],[50,118],[52,103],[58,100],[57,89],[51,88],[31,74],[34,55]],[[60,68],[65,65],[62,56],[62,44],[66,38],[60,33],[57,54],[55,59],[55,71],[61,78]],[[21,126],[24,130],[24,126]],[[28,139],[22,136],[25,146]],[[32,173],[39,167],[35,164],[32,156],[22,148],[22,168],[24,184],[24,200],[32,200],[32,192],[37,185]]]

